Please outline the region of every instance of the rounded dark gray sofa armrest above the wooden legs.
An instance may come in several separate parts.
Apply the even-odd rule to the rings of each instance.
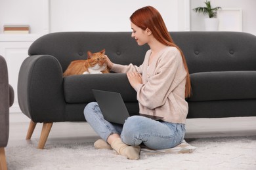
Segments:
[[[49,55],[26,58],[18,76],[18,103],[33,122],[64,121],[62,67]]]

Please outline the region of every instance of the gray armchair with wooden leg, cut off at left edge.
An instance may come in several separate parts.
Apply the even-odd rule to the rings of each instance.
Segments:
[[[9,85],[7,63],[0,56],[0,169],[7,169],[5,146],[9,139],[9,107],[14,101],[14,91]]]

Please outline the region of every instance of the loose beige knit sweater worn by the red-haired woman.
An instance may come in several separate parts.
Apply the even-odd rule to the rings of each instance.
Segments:
[[[186,71],[179,50],[168,46],[148,65],[151,50],[146,52],[144,62],[136,65],[115,64],[112,71],[127,73],[137,71],[142,84],[137,86],[140,113],[162,116],[163,121],[185,124],[188,103],[185,100]]]

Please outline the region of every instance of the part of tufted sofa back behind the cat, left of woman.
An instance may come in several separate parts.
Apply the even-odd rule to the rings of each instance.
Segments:
[[[102,49],[114,63],[140,65],[149,47],[138,46],[128,32],[60,32],[37,39],[28,54],[54,56],[65,71],[71,61],[87,59],[87,51],[94,53]]]

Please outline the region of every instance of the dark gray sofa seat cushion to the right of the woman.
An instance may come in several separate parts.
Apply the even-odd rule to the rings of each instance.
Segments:
[[[256,99],[256,71],[220,71],[190,75],[188,101]]]

